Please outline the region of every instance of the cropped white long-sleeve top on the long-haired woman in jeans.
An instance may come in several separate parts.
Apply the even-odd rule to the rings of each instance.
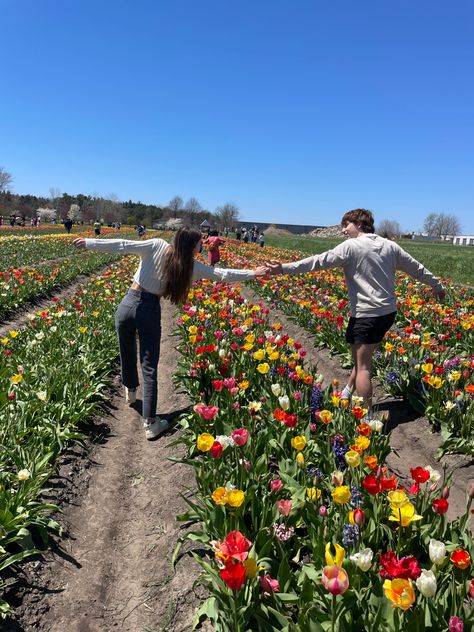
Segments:
[[[146,239],[134,241],[128,239],[86,239],[87,250],[99,252],[117,252],[123,255],[140,257],[140,265],[134,274],[136,281],[144,290],[161,295],[166,281],[166,252],[170,244],[164,239]],[[253,270],[233,270],[213,268],[200,261],[194,261],[193,281],[211,279],[236,283],[255,278]]]

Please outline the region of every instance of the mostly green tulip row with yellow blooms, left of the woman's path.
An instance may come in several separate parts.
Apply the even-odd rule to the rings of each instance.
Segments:
[[[11,328],[0,339],[3,577],[59,529],[51,519],[56,507],[48,502],[48,480],[64,447],[85,439],[78,425],[107,395],[118,355],[113,313],[135,265],[112,265],[73,295],[32,311],[27,326]],[[1,599],[5,586],[0,580],[0,617],[9,611]]]

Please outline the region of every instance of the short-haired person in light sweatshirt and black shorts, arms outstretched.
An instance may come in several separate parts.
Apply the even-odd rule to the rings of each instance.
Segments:
[[[444,299],[445,290],[437,277],[398,244],[374,234],[374,217],[370,211],[348,211],[341,219],[341,228],[347,240],[332,250],[292,263],[272,261],[267,265],[267,272],[299,274],[343,268],[350,302],[346,342],[351,346],[354,366],[342,390],[342,398],[350,400],[355,387],[370,419],[373,417],[372,358],[397,313],[395,272],[406,272],[432,287],[438,301]]]

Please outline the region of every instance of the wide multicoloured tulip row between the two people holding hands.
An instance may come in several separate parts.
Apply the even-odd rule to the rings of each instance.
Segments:
[[[248,265],[248,264],[247,264]],[[183,459],[197,492],[179,518],[202,542],[210,596],[195,626],[239,630],[467,630],[473,544],[445,519],[450,479],[388,471],[382,422],[323,388],[268,309],[197,284],[178,321],[177,380],[194,400]],[[177,548],[176,556],[180,548]]]

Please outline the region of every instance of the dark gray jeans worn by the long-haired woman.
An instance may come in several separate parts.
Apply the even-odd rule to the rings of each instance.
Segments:
[[[143,378],[143,417],[156,415],[158,399],[158,360],[160,358],[160,298],[149,292],[129,290],[115,314],[119,339],[122,382],[127,388],[139,384],[137,371],[137,334],[140,343],[140,367]]]

